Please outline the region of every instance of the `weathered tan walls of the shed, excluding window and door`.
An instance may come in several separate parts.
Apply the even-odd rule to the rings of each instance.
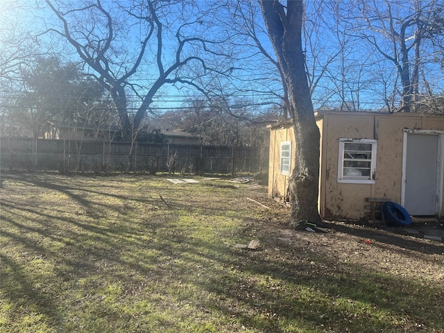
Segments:
[[[321,130],[318,207],[323,218],[331,219],[364,218],[368,197],[389,198],[400,203],[404,129],[444,130],[444,117],[431,114],[323,112],[316,114],[316,123]],[[294,141],[293,137],[291,124],[271,128],[270,196],[282,198],[287,191],[288,177],[280,174],[280,142]],[[340,138],[377,140],[375,184],[338,182]],[[441,148],[444,151],[444,147]],[[441,181],[444,182],[444,175]]]

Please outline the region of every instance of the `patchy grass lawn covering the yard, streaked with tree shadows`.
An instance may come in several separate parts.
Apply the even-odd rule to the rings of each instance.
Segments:
[[[3,174],[0,332],[444,332],[442,243],[166,178]]]

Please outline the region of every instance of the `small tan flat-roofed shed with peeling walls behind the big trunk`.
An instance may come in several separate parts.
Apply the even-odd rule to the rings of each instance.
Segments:
[[[444,115],[323,111],[315,117],[323,219],[366,219],[384,200],[413,216],[443,216]],[[288,200],[293,126],[284,121],[268,128],[268,195]]]

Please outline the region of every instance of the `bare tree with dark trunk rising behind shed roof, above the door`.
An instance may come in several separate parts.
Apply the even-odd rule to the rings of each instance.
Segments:
[[[429,49],[424,43],[428,40],[429,44],[429,33],[436,26],[434,14],[442,6],[436,0],[360,0],[356,7],[359,12],[347,12],[345,15],[351,18],[357,36],[366,40],[395,67],[393,90],[400,95],[397,111],[414,111],[420,100],[420,67],[429,58],[423,51]]]

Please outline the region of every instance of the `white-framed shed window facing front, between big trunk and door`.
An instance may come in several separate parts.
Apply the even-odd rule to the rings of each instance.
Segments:
[[[376,140],[339,139],[338,182],[375,183]]]

